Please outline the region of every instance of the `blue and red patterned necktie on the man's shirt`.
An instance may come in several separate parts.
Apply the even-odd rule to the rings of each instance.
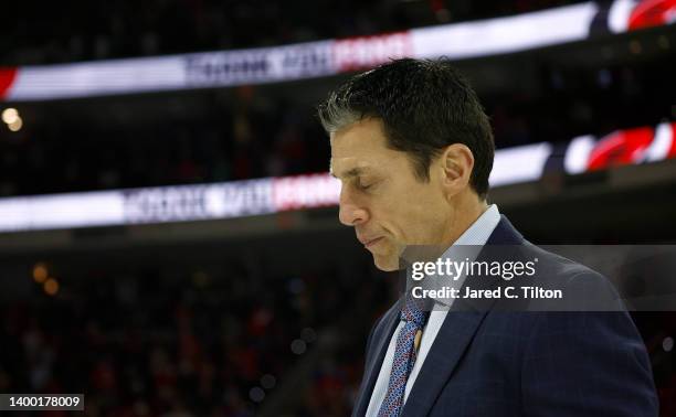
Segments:
[[[408,298],[404,308],[401,310],[401,320],[404,321],[404,325],[397,336],[392,373],[378,417],[397,417],[403,408],[406,381],[409,381],[409,375],[415,364],[415,335],[422,331],[427,320],[427,314],[422,311],[421,307],[420,302]]]

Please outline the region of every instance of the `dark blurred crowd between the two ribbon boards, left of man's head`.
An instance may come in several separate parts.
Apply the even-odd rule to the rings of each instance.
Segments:
[[[97,125],[52,118],[25,131],[29,140],[0,141],[0,195],[326,171],[328,141],[313,110],[272,104],[221,106],[219,114],[191,120]]]

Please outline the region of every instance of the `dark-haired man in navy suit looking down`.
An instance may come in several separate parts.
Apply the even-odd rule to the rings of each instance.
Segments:
[[[598,280],[529,245],[487,204],[492,129],[446,61],[398,60],[358,75],[319,117],[342,184],[340,222],[379,269],[398,269],[410,245],[520,245],[557,279]],[[647,354],[626,312],[425,313],[409,301],[371,331],[353,416],[657,415]]]

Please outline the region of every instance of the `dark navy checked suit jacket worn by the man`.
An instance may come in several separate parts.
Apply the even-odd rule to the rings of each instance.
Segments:
[[[538,250],[558,278],[591,272],[531,246],[503,216],[487,245]],[[363,416],[401,300],[367,342],[353,416]],[[402,416],[654,417],[658,402],[645,345],[622,312],[448,312]]]

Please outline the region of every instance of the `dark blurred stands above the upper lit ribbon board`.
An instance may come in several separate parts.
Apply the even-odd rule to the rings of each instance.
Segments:
[[[575,0],[36,0],[3,4],[0,65],[36,65],[367,35]]]

